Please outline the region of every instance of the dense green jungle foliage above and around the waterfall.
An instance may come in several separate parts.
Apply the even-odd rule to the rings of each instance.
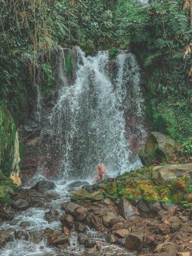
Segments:
[[[131,49],[147,73],[152,130],[181,142],[180,150],[191,155],[189,5],[188,0],[149,5],[132,0],[1,0],[0,103],[12,112],[18,109],[37,66],[47,82],[50,53],[58,45],[79,45],[87,54]]]

